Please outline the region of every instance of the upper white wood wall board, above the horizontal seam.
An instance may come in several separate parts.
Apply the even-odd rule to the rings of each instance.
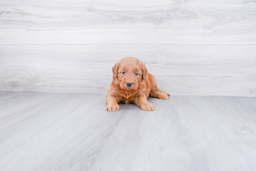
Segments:
[[[0,44],[256,45],[255,0],[0,3]]]

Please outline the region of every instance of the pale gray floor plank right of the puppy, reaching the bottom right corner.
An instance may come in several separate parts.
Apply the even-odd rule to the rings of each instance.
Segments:
[[[248,121],[241,116],[245,106],[240,102],[243,98],[236,98],[236,102],[230,102],[229,97],[175,98],[173,105],[190,142],[198,145],[198,159],[206,170],[255,170],[256,132],[246,126]]]

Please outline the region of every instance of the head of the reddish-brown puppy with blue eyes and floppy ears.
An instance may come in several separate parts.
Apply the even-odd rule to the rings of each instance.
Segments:
[[[112,68],[113,81],[119,84],[121,89],[136,90],[147,76],[145,63],[133,57],[121,59]]]

